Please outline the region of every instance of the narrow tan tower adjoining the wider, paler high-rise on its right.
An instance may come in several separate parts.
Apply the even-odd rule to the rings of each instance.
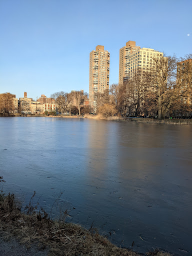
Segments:
[[[135,41],[127,41],[126,46],[119,50],[119,76],[118,84],[123,83],[123,78],[128,78],[128,68],[130,66],[130,54],[138,50],[140,46],[135,45]]]

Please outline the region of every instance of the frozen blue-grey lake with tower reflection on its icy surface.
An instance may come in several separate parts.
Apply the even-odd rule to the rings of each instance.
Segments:
[[[72,222],[139,252],[191,255],[191,166],[191,125],[0,117],[4,190],[47,211],[63,192]]]

